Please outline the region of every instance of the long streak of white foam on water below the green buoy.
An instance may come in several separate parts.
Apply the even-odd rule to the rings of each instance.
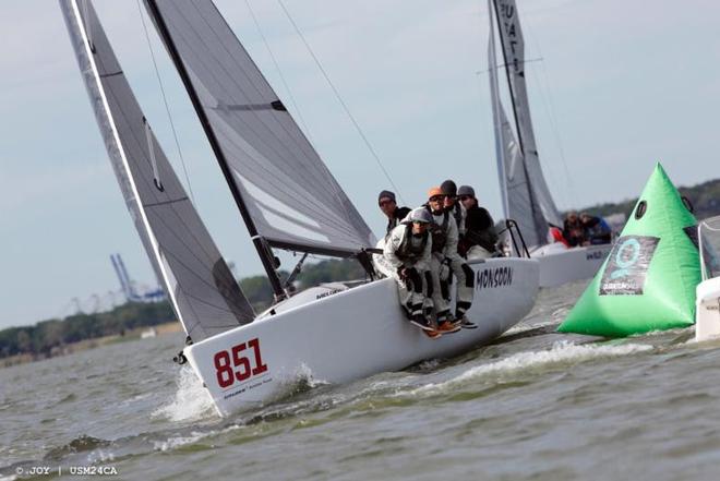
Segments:
[[[453,386],[464,384],[470,380],[488,375],[527,373],[529,370],[547,368],[552,364],[567,362],[586,362],[599,358],[614,358],[645,352],[653,349],[652,346],[639,344],[623,345],[575,345],[568,340],[560,340],[552,348],[543,351],[517,352],[506,359],[471,368],[457,377],[437,384],[427,384],[411,390],[410,395],[440,394]]]

